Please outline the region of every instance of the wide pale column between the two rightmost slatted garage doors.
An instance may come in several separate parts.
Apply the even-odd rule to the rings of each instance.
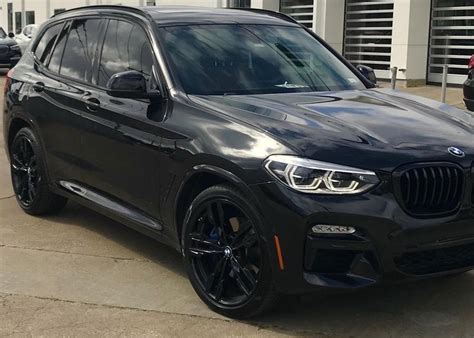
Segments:
[[[407,87],[426,84],[430,15],[430,0],[394,2],[390,66]]]

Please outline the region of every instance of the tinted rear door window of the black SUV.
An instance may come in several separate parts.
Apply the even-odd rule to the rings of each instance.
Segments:
[[[99,39],[100,19],[75,20],[69,30],[59,73],[87,80]]]

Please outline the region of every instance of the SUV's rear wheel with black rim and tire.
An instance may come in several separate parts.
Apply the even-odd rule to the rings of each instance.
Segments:
[[[43,152],[30,128],[22,128],[10,146],[10,171],[18,205],[30,215],[61,211],[67,198],[49,190]]]

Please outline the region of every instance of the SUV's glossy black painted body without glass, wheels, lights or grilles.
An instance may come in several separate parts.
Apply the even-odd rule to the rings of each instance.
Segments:
[[[474,241],[471,114],[374,89],[339,55],[366,90],[189,96],[167,65],[157,25],[295,23],[267,12],[102,6],[60,14],[42,29],[85,16],[120,18],[146,31],[161,95],[113,97],[93,81],[75,81],[48,71],[28,50],[6,89],[5,145],[18,125],[31,126],[41,140],[55,192],[180,250],[189,199],[208,185],[232,184],[262,215],[264,247],[275,285],[286,293],[318,286],[357,288],[388,277],[415,278],[399,271],[394,259],[406,252]],[[450,146],[463,149],[466,156],[453,157],[447,151]],[[373,170],[381,183],[362,195],[302,194],[276,182],[263,169],[263,160],[272,154]],[[463,168],[466,191],[455,214],[414,218],[398,204],[392,173],[422,162],[456,163]],[[318,223],[354,226],[367,243],[310,236],[310,227]],[[275,235],[280,239],[284,270],[278,265]],[[355,250],[361,256],[350,274],[308,271],[304,263],[308,252],[321,248]],[[453,271],[443,273],[447,272]]]

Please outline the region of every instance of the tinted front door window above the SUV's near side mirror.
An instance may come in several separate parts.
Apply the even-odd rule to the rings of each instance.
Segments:
[[[137,25],[110,20],[99,65],[98,85],[105,87],[116,73],[136,70],[152,76],[153,56],[145,31]]]

